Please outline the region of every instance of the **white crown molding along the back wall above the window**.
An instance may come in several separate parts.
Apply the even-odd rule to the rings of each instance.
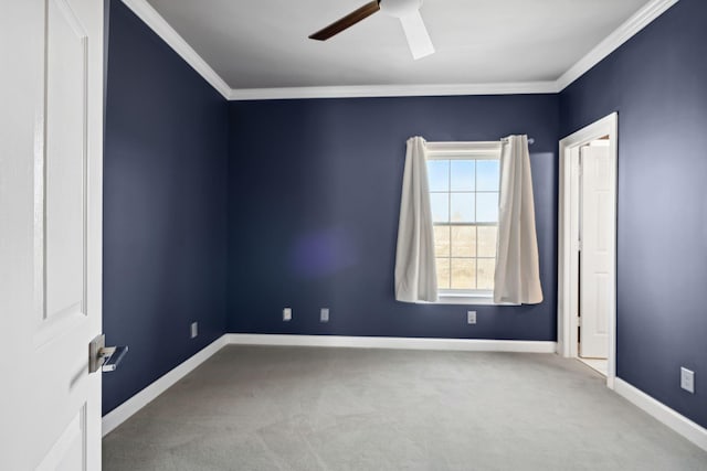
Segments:
[[[232,89],[231,100],[296,98],[362,98],[398,96],[518,95],[557,93],[555,82],[437,85],[360,85]]]

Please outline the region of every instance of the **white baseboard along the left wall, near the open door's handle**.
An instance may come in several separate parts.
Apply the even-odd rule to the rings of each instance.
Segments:
[[[130,397],[125,403],[103,416],[103,436],[110,433],[116,427],[129,419],[135,413],[147,406],[157,396],[170,388],[197,366],[209,360],[226,344],[226,335],[221,335],[208,346],[203,347],[155,383]]]

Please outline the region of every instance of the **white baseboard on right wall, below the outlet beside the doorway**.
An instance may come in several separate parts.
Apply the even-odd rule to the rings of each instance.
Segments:
[[[641,389],[621,378],[614,382],[614,390],[630,403],[643,409],[658,421],[665,424],[703,450],[707,451],[707,429],[695,424],[687,417],[676,413],[665,404],[654,399]]]

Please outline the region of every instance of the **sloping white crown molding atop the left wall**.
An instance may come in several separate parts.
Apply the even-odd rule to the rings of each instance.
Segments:
[[[231,87],[182,36],[157,12],[146,0],[122,0],[133,12],[145,22],[167,45],[175,50],[191,67],[199,73],[225,99],[231,95]]]

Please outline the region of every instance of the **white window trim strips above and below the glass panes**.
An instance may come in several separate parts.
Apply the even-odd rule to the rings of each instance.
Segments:
[[[428,160],[500,160],[502,141],[428,142]],[[498,306],[493,290],[440,289],[433,304]]]

